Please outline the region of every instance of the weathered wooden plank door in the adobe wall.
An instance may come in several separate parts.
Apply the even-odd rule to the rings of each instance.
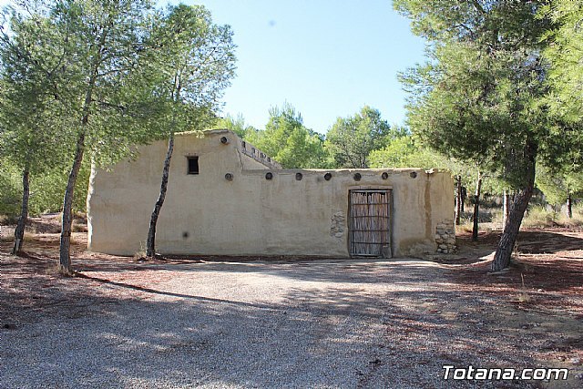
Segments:
[[[390,257],[391,190],[351,190],[349,250],[354,257]]]

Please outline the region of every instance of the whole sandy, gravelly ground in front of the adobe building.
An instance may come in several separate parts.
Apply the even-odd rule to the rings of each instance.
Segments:
[[[76,232],[67,278],[54,271],[51,223],[36,220],[21,257],[2,230],[2,388],[583,385],[581,231],[521,232],[497,274],[499,232],[458,237],[454,255],[393,261],[139,261],[86,252]],[[566,367],[569,379],[445,382],[443,364]]]

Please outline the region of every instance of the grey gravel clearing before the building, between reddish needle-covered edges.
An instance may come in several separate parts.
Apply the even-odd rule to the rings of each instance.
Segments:
[[[444,381],[442,365],[536,368],[580,339],[580,318],[460,292],[428,261],[77,270],[46,286],[64,298],[0,329],[0,388],[531,387]]]

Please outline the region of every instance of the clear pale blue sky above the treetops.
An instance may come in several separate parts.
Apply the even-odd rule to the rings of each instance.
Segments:
[[[287,101],[308,128],[325,133],[336,118],[369,105],[390,123],[403,123],[397,73],[423,62],[424,41],[390,0],[183,3],[205,5],[215,23],[232,26],[238,69],[223,114],[240,113],[263,128],[269,108]]]

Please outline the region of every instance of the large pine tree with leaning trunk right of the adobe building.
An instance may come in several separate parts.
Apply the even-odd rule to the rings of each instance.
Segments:
[[[508,266],[534,192],[536,165],[578,158],[579,123],[550,109],[542,36],[549,1],[394,0],[430,60],[401,76],[408,123],[425,145],[469,162],[515,191],[492,269]],[[580,158],[580,156],[579,156]]]

